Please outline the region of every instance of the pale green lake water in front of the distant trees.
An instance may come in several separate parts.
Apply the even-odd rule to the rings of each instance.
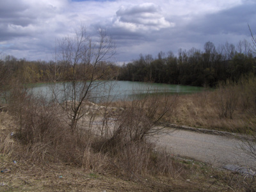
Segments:
[[[80,85],[77,85],[79,90]],[[71,83],[36,84],[32,89],[34,95],[43,95],[48,99],[52,97],[52,90],[60,100],[71,99],[71,95],[64,95],[64,90],[72,90]],[[132,81],[94,81],[88,99],[92,102],[105,102],[106,100],[132,100],[145,94],[186,94],[202,92],[204,88],[196,86],[182,86],[177,84],[141,83]]]

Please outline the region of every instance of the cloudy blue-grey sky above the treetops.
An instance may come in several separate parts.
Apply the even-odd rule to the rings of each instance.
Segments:
[[[0,52],[52,60],[56,39],[84,24],[91,36],[107,29],[122,63],[139,54],[203,50],[208,41],[250,41],[255,18],[255,0],[0,0]]]

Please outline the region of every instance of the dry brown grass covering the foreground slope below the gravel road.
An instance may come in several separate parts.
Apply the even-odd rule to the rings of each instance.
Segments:
[[[22,144],[13,137],[19,129],[8,113],[0,113],[0,120],[0,170],[8,169],[0,173],[1,191],[246,191],[252,182],[196,161],[175,159],[145,143],[102,152],[93,150],[92,141],[99,140],[91,138],[81,152],[71,152],[70,143],[59,143],[63,148],[52,154],[50,145]],[[66,135],[61,132],[61,137]],[[60,155],[62,150],[68,151],[67,157]],[[68,157],[74,154],[80,158]]]

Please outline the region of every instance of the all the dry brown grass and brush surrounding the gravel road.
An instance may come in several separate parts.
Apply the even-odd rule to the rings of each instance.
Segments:
[[[162,130],[158,125],[163,120],[195,127],[220,126],[229,131],[245,126],[241,115],[248,120],[246,111],[253,109],[240,100],[232,118],[224,118],[216,109],[216,94],[218,90],[181,95],[178,100],[161,95],[116,102],[111,105],[124,110],[115,114],[106,108],[93,108],[93,112],[87,109],[90,113],[86,118],[92,120],[89,124],[99,116],[104,117],[105,125],[108,118],[115,118],[112,127],[102,125],[108,134],[93,133],[93,127],[83,119],[74,132],[60,106],[26,93],[13,95],[8,112],[0,114],[1,170],[11,170],[3,173],[0,182],[6,191],[49,191],[52,187],[56,191],[219,191],[230,189],[234,183],[235,191],[253,189],[250,178],[243,180],[209,166],[180,161],[165,152],[156,152],[147,140],[150,134]],[[246,98],[250,100],[251,96]],[[251,121],[250,125],[255,124]]]

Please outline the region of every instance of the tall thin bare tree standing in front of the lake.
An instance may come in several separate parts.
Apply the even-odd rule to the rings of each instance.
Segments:
[[[68,109],[70,129],[74,132],[77,121],[85,115],[81,111],[84,101],[95,97],[92,92],[102,84],[102,81],[97,80],[106,76],[101,62],[114,56],[115,42],[107,35],[106,29],[99,28],[97,38],[92,38],[86,28],[81,26],[76,35],[61,39],[58,48],[63,77],[68,81],[63,83],[61,91],[64,98],[61,102]]]

